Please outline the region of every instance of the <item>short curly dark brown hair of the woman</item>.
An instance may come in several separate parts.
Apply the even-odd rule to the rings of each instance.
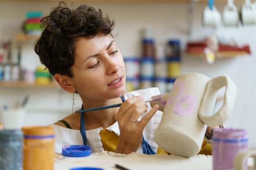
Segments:
[[[108,14],[103,16],[101,9],[85,4],[76,9],[67,8],[63,1],[41,20],[43,32],[36,41],[34,50],[40,62],[52,75],[59,73],[74,77],[71,66],[74,64],[75,41],[79,38],[94,38],[99,33],[112,35],[115,20]]]

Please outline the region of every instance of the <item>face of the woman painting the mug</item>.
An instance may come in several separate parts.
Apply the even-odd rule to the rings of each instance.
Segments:
[[[123,56],[110,35],[75,42],[72,84],[87,99],[112,99],[124,95],[126,72]]]

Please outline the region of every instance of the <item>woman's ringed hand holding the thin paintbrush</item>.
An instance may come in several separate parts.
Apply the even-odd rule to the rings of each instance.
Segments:
[[[129,154],[137,151],[142,141],[142,132],[157,112],[159,105],[153,106],[140,121],[137,121],[147,108],[148,105],[143,101],[142,96],[131,97],[121,104],[117,113],[120,138],[115,152]]]

